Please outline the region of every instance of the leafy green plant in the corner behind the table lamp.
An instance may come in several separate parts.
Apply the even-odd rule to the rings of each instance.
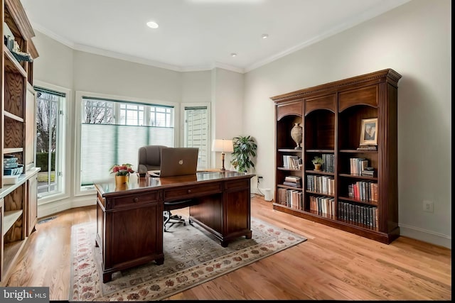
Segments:
[[[238,136],[232,139],[234,152],[230,163],[237,172],[247,172],[255,167],[252,158],[256,157],[257,144],[251,136]]]

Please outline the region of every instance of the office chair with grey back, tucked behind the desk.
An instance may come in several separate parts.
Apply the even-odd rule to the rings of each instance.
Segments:
[[[166,148],[164,145],[146,145],[141,146],[138,150],[138,163],[137,172],[139,176],[144,177],[149,170],[159,170],[161,167],[161,149]],[[182,216],[173,215],[171,210],[183,209],[187,206],[194,204],[193,200],[183,200],[176,202],[164,202],[164,231],[167,231],[166,226],[170,224],[183,224],[186,225],[185,219]],[[191,224],[191,221],[189,222]]]

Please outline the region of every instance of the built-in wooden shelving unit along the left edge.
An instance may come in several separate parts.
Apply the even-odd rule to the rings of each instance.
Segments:
[[[33,90],[33,59],[38,52],[35,35],[21,1],[1,1],[1,86],[0,86],[0,286],[6,285],[11,270],[37,221],[37,177],[35,163],[36,99]],[[18,61],[8,38],[32,60]],[[16,51],[17,53],[17,51]],[[4,175],[4,156],[13,155],[23,172],[11,182]]]

